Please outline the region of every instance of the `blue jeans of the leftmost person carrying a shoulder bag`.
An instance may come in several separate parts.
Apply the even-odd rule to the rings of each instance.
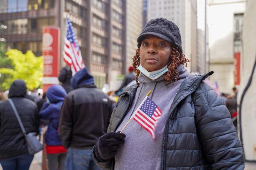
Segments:
[[[0,161],[3,170],[29,170],[34,155],[21,155],[16,158]]]

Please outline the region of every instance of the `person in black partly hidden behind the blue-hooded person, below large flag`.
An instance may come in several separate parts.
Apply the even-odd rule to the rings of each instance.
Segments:
[[[73,90],[72,86],[70,85],[71,78],[72,71],[70,69],[70,66],[66,65],[64,68],[61,69],[60,74],[58,75],[58,79],[67,93]]]

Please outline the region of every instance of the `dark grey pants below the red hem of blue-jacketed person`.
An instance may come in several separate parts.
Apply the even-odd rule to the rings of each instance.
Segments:
[[[67,153],[47,154],[48,170],[64,170]]]

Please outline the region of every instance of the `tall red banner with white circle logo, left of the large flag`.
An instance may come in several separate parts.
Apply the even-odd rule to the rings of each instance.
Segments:
[[[43,28],[43,57],[44,77],[43,91],[49,86],[59,84],[59,59],[60,59],[60,29],[58,27],[46,26]]]

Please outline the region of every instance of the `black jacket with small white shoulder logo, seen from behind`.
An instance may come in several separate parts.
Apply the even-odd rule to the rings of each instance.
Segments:
[[[83,85],[67,94],[59,122],[62,145],[92,149],[107,132],[112,113],[111,101],[95,85]]]

